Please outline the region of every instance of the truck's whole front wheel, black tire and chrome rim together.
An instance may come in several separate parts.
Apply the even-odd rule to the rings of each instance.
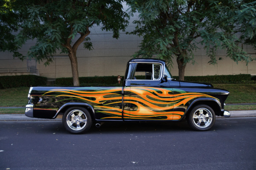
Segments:
[[[215,113],[208,105],[197,105],[189,113],[188,123],[194,130],[209,130],[215,124]]]

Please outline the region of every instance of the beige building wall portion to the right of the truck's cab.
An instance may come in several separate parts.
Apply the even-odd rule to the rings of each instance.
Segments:
[[[243,45],[244,51],[256,58],[256,50],[250,45]],[[207,76],[207,75],[230,75],[230,74],[252,74],[256,75],[256,60],[253,62],[234,62],[226,57],[224,50],[218,51],[217,64],[209,65],[210,58],[206,56],[206,51],[201,47],[195,51],[195,64],[188,63],[186,65],[185,76]],[[222,60],[218,60],[221,57]],[[173,68],[170,68],[173,76],[178,76],[178,67],[174,61]]]

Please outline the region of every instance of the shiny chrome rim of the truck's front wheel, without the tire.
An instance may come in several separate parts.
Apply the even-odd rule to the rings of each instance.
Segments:
[[[200,108],[193,114],[193,122],[197,127],[208,127],[212,122],[212,113],[206,108]]]

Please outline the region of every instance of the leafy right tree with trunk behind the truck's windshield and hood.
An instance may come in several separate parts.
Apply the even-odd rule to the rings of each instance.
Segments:
[[[170,64],[176,59],[179,80],[184,80],[186,64],[194,63],[198,44],[206,48],[210,64],[217,62],[218,49],[226,49],[227,57],[236,62],[250,62],[253,58],[239,47],[256,34],[256,1],[247,1],[128,0],[140,18],[130,34],[143,36],[135,57],[157,56]]]

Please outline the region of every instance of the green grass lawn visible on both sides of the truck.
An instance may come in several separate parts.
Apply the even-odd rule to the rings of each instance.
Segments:
[[[214,88],[230,91],[225,103],[256,103],[256,84],[214,84]],[[29,88],[0,89],[0,107],[25,107],[28,103]],[[228,111],[256,110],[256,105],[225,106]],[[25,109],[0,109],[0,114],[21,113]]]

